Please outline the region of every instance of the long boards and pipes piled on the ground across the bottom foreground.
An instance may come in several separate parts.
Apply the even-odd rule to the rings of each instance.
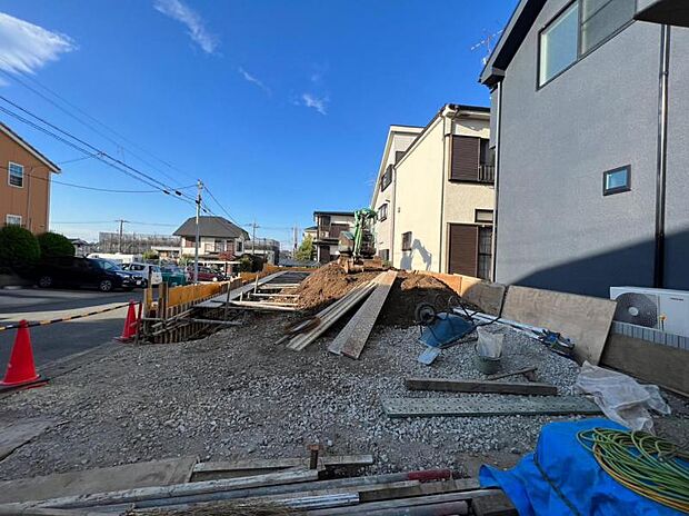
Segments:
[[[369,458],[322,457],[333,466],[348,460],[355,465],[368,463]],[[236,465],[203,463],[194,467],[194,474],[219,473],[224,468],[227,473],[237,473],[240,468],[244,476],[3,504],[0,514],[467,515],[479,499],[502,496],[499,489],[481,489],[477,479],[455,479],[449,469],[320,479],[322,470],[301,463],[300,459]],[[282,469],[273,472],[274,467]],[[509,500],[502,500],[503,510],[490,514],[515,515]]]

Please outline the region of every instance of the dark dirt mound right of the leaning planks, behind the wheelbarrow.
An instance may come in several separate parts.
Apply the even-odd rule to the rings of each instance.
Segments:
[[[438,310],[443,310],[452,297],[458,299],[455,290],[432,276],[399,271],[377,322],[386,326],[413,326],[415,310],[420,302],[430,302]]]

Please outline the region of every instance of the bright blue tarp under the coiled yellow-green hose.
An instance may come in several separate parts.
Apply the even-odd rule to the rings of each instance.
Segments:
[[[596,427],[626,429],[609,419],[551,423],[541,429],[536,452],[526,455],[515,468],[502,472],[481,466],[481,487],[500,487],[520,516],[680,514],[637,495],[598,465],[577,440],[579,431]]]

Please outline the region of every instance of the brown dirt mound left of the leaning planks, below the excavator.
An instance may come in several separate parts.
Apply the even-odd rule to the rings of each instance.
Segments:
[[[328,264],[304,279],[293,294],[299,295],[299,308],[306,311],[320,310],[346,296],[357,285],[369,281],[380,272],[344,274],[337,264]]]

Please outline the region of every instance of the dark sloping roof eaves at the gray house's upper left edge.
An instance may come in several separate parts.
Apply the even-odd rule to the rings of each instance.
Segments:
[[[521,0],[505,28],[498,44],[481,71],[479,81],[492,88],[505,77],[505,70],[536,22],[546,0]]]

